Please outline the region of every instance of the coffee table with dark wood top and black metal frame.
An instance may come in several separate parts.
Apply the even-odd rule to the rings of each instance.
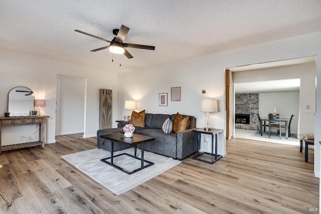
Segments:
[[[144,143],[150,142],[150,141],[154,140],[155,138],[149,137],[149,136],[145,136],[145,135],[140,135],[140,134],[133,134],[132,137],[125,137],[122,133],[106,134],[106,135],[101,135],[100,137],[111,141],[111,144],[110,144],[110,157],[101,159],[102,162],[107,163],[108,165],[113,166],[113,167],[115,167],[115,168],[119,169],[120,171],[123,171],[123,172],[125,172],[127,174],[132,174],[134,172],[137,172],[137,171],[139,171],[141,169],[144,169],[144,168],[154,164],[154,163],[152,163],[150,161],[144,160]],[[125,144],[125,145],[128,145],[128,146],[134,145],[134,156],[130,155],[130,154],[127,154],[127,153],[121,153],[121,154],[118,154],[118,155],[114,156],[114,142]],[[136,150],[137,150],[136,146],[137,146],[137,144],[141,144],[141,158],[136,157]],[[127,156],[133,157],[135,159],[141,160],[140,167],[137,168],[137,169],[134,169],[132,171],[128,171],[128,170],[126,170],[124,168],[121,168],[121,167],[115,165],[114,161],[113,161],[114,157],[118,157],[118,156],[121,156],[121,155],[127,155]],[[110,159],[110,162],[107,161],[108,159]],[[144,162],[148,163],[148,164],[144,165]]]

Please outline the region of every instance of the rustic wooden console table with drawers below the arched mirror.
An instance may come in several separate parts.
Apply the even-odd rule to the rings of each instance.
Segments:
[[[45,142],[43,140],[44,122],[45,118],[49,116],[13,116],[13,117],[0,117],[0,154],[2,151],[19,149],[31,146],[45,147]],[[1,145],[1,127],[2,126],[12,126],[12,125],[28,125],[28,124],[39,124],[39,141],[19,143],[13,145]]]

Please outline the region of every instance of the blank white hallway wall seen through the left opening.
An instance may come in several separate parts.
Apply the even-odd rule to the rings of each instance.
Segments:
[[[59,135],[84,132],[85,79],[57,75],[60,79]]]

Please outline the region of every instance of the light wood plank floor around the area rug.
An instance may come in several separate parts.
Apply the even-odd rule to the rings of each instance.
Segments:
[[[214,164],[187,157],[115,195],[60,155],[96,148],[96,138],[58,136],[45,148],[0,155],[0,213],[317,213],[319,179],[298,146],[231,139]],[[317,211],[309,211],[317,208]]]

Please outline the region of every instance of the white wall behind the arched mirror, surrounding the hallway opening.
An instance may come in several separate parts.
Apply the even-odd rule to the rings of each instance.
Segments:
[[[57,74],[75,76],[86,79],[86,109],[85,121],[86,129],[84,137],[96,136],[99,125],[99,89],[109,88],[113,92],[117,91],[117,74],[113,72],[77,66],[70,63],[59,62],[42,57],[36,57],[8,50],[0,49],[0,73],[2,78],[0,84],[2,93],[0,94],[0,114],[4,115],[8,111],[8,93],[16,86],[26,86],[32,89],[36,99],[45,99],[46,106],[41,110],[42,115],[48,115],[46,119],[45,142],[55,142],[55,111],[56,111],[56,79]],[[75,107],[77,108],[77,106]],[[117,114],[117,96],[113,95],[113,118]],[[115,120],[115,119],[113,119]],[[3,134],[11,132],[11,137],[3,138],[4,144],[12,144],[16,140],[14,136],[20,136],[20,128],[6,127]],[[33,135],[31,128],[27,135]],[[20,141],[20,139],[18,139]],[[20,143],[20,142],[18,142]]]

